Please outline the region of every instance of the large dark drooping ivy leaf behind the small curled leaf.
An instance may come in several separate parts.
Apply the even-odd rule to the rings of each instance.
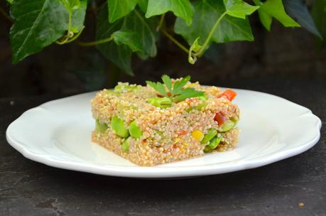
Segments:
[[[110,38],[112,34],[116,31],[127,31],[133,32],[140,38],[140,43],[135,44],[134,46],[140,48],[136,53],[142,58],[148,58],[148,56],[156,55],[156,40],[157,33],[154,30],[156,23],[153,18],[144,18],[143,14],[137,9],[124,16],[114,23],[109,23],[107,21],[108,10],[107,6],[104,6],[106,9],[102,8],[97,18],[97,40]],[[135,38],[135,37],[133,37]],[[137,40],[136,40],[137,41]],[[139,45],[140,44],[140,45]],[[103,43],[97,45],[97,48],[106,56],[109,60],[112,60],[121,70],[124,70],[127,74],[132,75],[131,70],[131,53],[132,50],[127,45],[117,45],[116,43]],[[136,49],[134,48],[134,50]]]

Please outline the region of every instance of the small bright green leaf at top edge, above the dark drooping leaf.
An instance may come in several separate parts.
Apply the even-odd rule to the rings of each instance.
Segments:
[[[114,23],[135,9],[137,0],[108,0],[109,22]]]

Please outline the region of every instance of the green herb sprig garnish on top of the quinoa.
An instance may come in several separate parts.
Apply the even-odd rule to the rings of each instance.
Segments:
[[[190,80],[190,76],[183,77],[181,80],[172,82],[168,75],[162,76],[163,83],[146,81],[147,85],[153,87],[158,93],[171,100],[171,102],[180,102],[191,97],[201,97],[205,92],[197,91],[194,88],[183,88]],[[168,89],[168,91],[165,91]]]

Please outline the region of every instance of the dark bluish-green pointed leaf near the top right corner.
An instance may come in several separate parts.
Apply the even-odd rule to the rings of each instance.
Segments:
[[[322,38],[313,18],[307,8],[307,4],[303,0],[283,0],[284,8],[289,16],[295,19],[301,27],[313,33],[315,36]]]

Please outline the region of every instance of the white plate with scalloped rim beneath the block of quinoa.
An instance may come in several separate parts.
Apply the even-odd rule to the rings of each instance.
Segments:
[[[134,178],[214,175],[264,166],[295,156],[320,139],[321,121],[281,97],[237,90],[241,134],[237,148],[201,158],[141,167],[91,142],[90,99],[94,92],[57,99],[29,109],[7,131],[9,144],[26,158],[74,171]]]

